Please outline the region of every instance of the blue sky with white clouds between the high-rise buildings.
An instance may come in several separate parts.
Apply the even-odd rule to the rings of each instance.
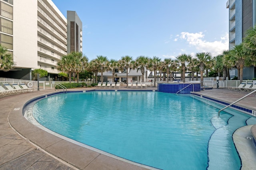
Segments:
[[[228,50],[227,0],[52,0],[83,24],[83,53],[175,59],[180,54]]]

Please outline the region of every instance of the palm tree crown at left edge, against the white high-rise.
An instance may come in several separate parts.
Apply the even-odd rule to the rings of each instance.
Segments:
[[[12,55],[0,44],[0,69],[9,71],[14,66],[16,66],[16,64],[12,60]]]

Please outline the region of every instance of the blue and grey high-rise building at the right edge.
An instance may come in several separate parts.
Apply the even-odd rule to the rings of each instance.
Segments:
[[[229,49],[242,43],[245,33],[256,24],[256,0],[228,0],[226,8],[229,9]],[[237,76],[237,70],[230,71],[230,77]],[[256,77],[254,66],[244,68],[243,78]]]

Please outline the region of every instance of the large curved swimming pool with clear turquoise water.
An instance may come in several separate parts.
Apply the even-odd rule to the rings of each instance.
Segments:
[[[232,109],[218,117],[217,107],[161,92],[92,91],[50,96],[32,112],[52,131],[155,168],[240,169],[232,133],[255,117]]]

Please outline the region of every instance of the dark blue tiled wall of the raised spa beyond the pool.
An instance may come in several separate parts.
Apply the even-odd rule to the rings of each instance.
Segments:
[[[164,83],[162,83],[161,84],[161,83],[159,83],[159,84],[157,84],[157,91],[164,92],[164,93],[177,93],[178,91],[180,91],[180,92],[178,92],[178,94],[190,94],[190,92],[200,92],[200,83],[198,83],[198,84],[184,84],[184,83],[182,83],[182,84],[164,84]]]

